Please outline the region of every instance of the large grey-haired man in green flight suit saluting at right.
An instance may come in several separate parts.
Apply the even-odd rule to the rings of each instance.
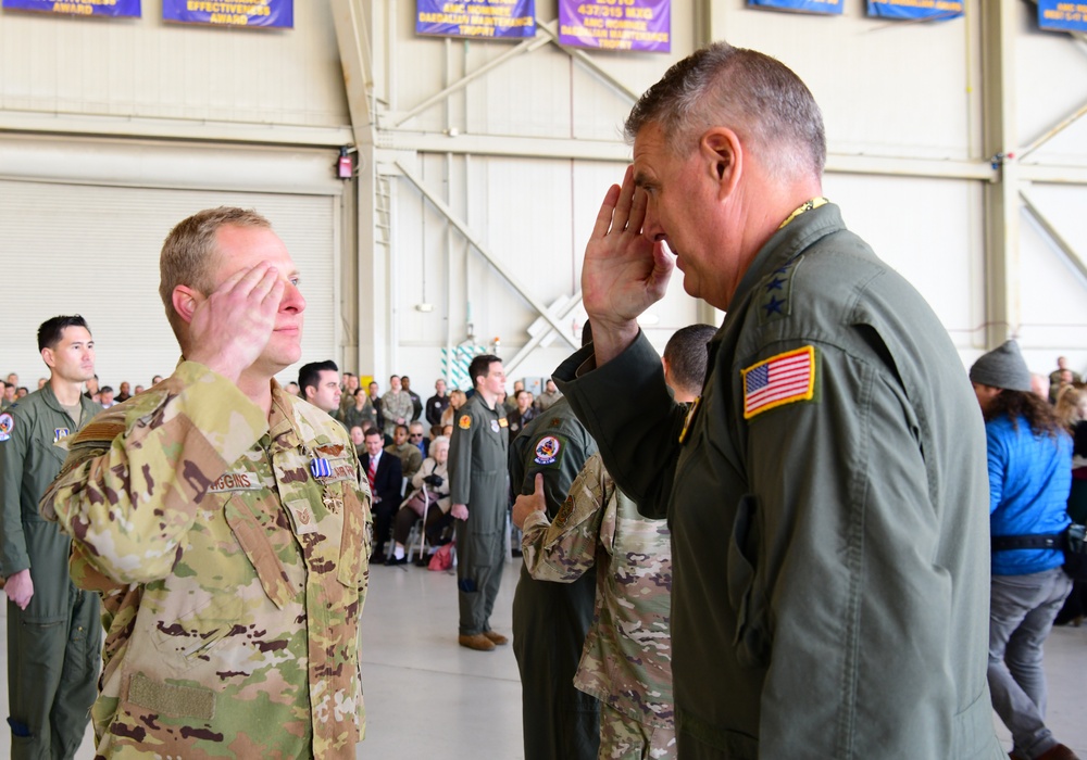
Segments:
[[[626,135],[582,269],[592,346],[553,377],[669,518],[678,757],[1003,757],[982,418],[940,320],[822,197],[811,92],[715,42]],[[689,414],[637,322],[673,267],[726,313]]]

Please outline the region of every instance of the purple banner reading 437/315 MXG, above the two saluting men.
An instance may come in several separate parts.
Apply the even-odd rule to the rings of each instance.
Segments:
[[[672,0],[559,0],[559,41],[574,48],[672,50]]]

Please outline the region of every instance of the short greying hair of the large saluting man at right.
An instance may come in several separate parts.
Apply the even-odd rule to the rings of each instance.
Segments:
[[[712,127],[728,127],[775,176],[823,174],[823,114],[792,69],[769,55],[714,42],[679,61],[635,103],[625,132],[633,141],[657,125],[673,154],[686,156]]]

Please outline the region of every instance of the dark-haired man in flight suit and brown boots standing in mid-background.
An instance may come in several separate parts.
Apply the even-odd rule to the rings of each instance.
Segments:
[[[498,396],[505,388],[502,360],[491,354],[472,359],[468,377],[475,393],[457,413],[449,445],[449,514],[457,519],[458,643],[490,651],[509,639],[490,628],[490,612],[502,582],[505,509],[510,486],[510,445],[505,409]]]

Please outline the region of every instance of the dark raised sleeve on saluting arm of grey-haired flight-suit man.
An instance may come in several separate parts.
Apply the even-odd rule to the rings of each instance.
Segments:
[[[645,333],[603,367],[585,346],[552,378],[623,493],[644,516],[666,517],[686,408],[669,393],[661,358]]]

